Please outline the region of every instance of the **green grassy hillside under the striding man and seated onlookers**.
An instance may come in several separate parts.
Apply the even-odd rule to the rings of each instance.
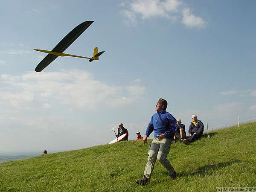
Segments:
[[[124,141],[0,164],[0,191],[192,191],[256,186],[256,122],[225,128],[212,137],[171,145],[178,177],[157,162],[151,183],[139,186],[147,161],[142,141]]]

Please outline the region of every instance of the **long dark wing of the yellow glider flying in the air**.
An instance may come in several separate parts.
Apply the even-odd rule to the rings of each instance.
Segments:
[[[53,49],[51,52],[55,53],[62,53],[64,50],[67,49],[91,24],[93,21],[85,21],[78,26],[76,26],[72,31],[70,31]],[[38,49],[41,50],[41,49]],[[46,51],[46,50],[45,50]],[[49,52],[48,52],[49,53]],[[55,60],[58,56],[49,53],[46,55],[46,57],[38,64],[38,66],[35,68],[36,72],[41,72],[44,70],[45,67],[47,67],[52,61]],[[67,56],[67,55],[66,55]],[[94,55],[93,55],[94,56]],[[94,60],[94,59],[93,59]]]

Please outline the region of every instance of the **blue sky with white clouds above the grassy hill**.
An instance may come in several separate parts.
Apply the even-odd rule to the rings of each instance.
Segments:
[[[0,0],[0,152],[107,144],[145,134],[159,98],[189,128],[256,119],[254,0]],[[58,57],[35,67],[80,23]],[[254,82],[254,83],[253,83]],[[151,134],[150,138],[153,138]]]

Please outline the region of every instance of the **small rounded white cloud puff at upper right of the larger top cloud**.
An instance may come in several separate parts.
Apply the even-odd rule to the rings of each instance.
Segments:
[[[182,23],[189,27],[205,27],[207,25],[207,22],[202,18],[195,16],[191,13],[191,9],[186,7],[183,9],[183,18]]]

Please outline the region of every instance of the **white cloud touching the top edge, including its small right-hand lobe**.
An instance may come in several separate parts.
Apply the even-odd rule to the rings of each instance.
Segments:
[[[143,20],[162,17],[171,22],[177,21],[182,16],[180,15],[182,7],[183,24],[190,27],[206,26],[207,22],[202,17],[192,14],[191,10],[181,0],[134,0],[122,13],[128,19],[126,22],[135,26],[137,16],[141,16]]]

